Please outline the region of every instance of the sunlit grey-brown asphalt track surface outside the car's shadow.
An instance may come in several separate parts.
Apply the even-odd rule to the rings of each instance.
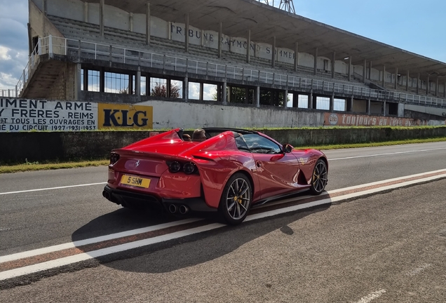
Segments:
[[[446,168],[446,142],[326,154],[329,190]],[[0,194],[104,182],[106,173],[0,175]],[[445,185],[208,232],[2,290],[0,302],[359,302],[367,295],[377,302],[444,302]],[[0,255],[165,222],[105,201],[102,187],[0,195]]]

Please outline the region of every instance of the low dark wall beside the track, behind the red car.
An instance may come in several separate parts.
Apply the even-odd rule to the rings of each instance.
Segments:
[[[446,137],[446,126],[436,128],[320,128],[262,130],[283,144],[349,144]],[[149,132],[0,133],[1,163],[107,158],[112,149],[149,136]]]

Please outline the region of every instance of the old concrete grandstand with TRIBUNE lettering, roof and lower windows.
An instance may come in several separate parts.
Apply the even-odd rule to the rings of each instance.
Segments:
[[[254,0],[29,0],[29,52],[28,99],[446,116],[444,62]]]

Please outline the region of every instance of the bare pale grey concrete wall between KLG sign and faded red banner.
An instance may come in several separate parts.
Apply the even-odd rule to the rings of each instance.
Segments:
[[[145,101],[138,105],[154,107],[154,128],[283,128],[322,126],[323,112],[296,109],[239,107],[189,102]],[[175,111],[173,111],[175,107]]]

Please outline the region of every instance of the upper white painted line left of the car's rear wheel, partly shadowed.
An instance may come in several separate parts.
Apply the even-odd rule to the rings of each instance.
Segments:
[[[23,253],[15,253],[13,255],[6,255],[6,256],[0,257],[0,263],[10,262],[10,261],[14,261],[14,260],[20,260],[20,259],[24,259],[27,257],[34,257],[36,255],[43,255],[46,253],[54,253],[54,252],[60,251],[60,250],[66,250],[69,248],[75,248],[75,247],[79,247],[79,246],[83,246],[83,245],[99,243],[102,241],[114,240],[116,238],[123,238],[126,236],[135,236],[137,234],[144,234],[144,233],[147,233],[150,231],[166,229],[168,227],[176,227],[178,225],[192,223],[192,222],[196,222],[196,221],[200,221],[200,220],[201,219],[191,218],[191,219],[187,219],[187,220],[174,221],[174,222],[154,225],[151,227],[144,227],[144,228],[140,228],[140,229],[132,229],[130,231],[123,231],[123,232],[116,233],[116,234],[109,234],[107,236],[99,236],[99,237],[95,237],[95,238],[89,238],[86,240],[74,241],[74,242],[64,243],[64,244],[60,244],[60,245],[53,245],[53,246],[49,246],[47,248],[39,248],[36,250],[29,250],[29,251],[26,251]]]

